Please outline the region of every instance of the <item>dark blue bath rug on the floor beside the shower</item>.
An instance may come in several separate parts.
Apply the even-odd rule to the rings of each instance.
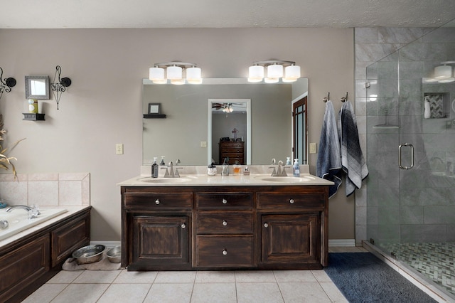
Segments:
[[[349,302],[436,302],[370,252],[328,254],[324,268]]]

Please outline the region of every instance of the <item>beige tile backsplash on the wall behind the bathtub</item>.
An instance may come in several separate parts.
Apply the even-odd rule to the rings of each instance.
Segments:
[[[90,174],[0,174],[0,198],[9,205],[88,206]]]

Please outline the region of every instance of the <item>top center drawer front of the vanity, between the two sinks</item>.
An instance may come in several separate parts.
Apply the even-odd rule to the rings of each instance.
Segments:
[[[196,193],[200,209],[252,209],[252,193]]]

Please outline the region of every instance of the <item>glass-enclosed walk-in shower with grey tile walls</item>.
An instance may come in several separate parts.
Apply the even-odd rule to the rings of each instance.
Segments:
[[[367,238],[455,298],[454,68],[451,21],[368,66],[365,86]]]

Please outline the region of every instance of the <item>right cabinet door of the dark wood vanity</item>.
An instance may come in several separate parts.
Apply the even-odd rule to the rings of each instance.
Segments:
[[[321,223],[318,213],[261,216],[264,264],[320,264]]]

